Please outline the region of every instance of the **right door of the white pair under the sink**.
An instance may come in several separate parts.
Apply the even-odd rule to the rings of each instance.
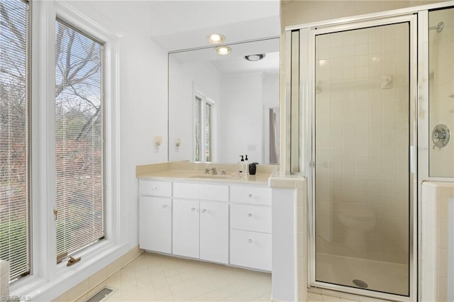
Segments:
[[[200,259],[228,263],[228,203],[200,202]]]

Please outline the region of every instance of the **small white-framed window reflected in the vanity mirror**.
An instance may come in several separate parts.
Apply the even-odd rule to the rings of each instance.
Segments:
[[[194,146],[196,162],[213,160],[214,101],[196,95],[194,101]]]

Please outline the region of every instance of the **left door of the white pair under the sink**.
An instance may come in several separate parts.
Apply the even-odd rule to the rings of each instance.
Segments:
[[[174,199],[173,254],[199,258],[199,201]]]

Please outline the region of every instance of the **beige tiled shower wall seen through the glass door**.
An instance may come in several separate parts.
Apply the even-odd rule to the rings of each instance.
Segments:
[[[338,207],[362,203],[375,211],[377,223],[368,234],[367,249],[362,250],[364,245],[358,244],[353,254],[405,263],[407,258],[401,254],[407,255],[408,247],[399,241],[408,237],[408,216],[402,214],[402,208],[408,208],[408,183],[397,181],[408,177],[409,129],[405,121],[409,96],[408,89],[397,86],[408,87],[408,77],[397,74],[397,65],[403,65],[405,59],[408,65],[408,57],[402,55],[404,50],[408,53],[408,46],[403,45],[408,39],[402,38],[403,32],[387,26],[323,35],[317,40],[321,47],[318,57],[323,57],[323,62],[319,61],[316,74],[322,87],[316,95],[316,125],[331,125],[331,136],[323,136],[327,127],[320,128],[323,135],[316,135],[316,150],[324,150],[323,156],[317,152],[319,167],[323,166],[319,175],[331,184],[330,189],[325,186],[323,191],[317,190],[323,197],[323,211],[319,207],[317,213],[319,218],[332,220],[332,240],[342,243],[345,236],[344,226],[338,221]],[[392,88],[381,88],[384,75],[392,77]],[[406,82],[401,79],[405,77]],[[325,108],[330,108],[329,113]],[[333,204],[332,213],[326,201]],[[323,251],[353,255],[339,245],[326,245]]]

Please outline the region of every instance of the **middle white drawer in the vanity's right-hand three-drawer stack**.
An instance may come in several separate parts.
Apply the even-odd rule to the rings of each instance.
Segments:
[[[233,203],[230,207],[230,227],[271,233],[271,207]]]

